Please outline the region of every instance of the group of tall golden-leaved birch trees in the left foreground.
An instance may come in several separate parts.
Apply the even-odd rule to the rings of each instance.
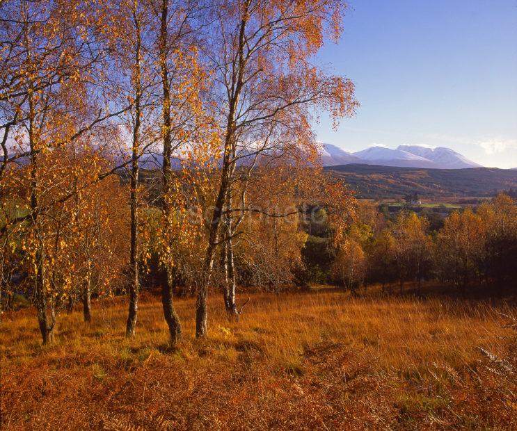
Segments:
[[[339,0],[2,1],[0,303],[23,291],[51,343],[60,311],[81,301],[89,321],[92,295],[120,288],[132,336],[154,264],[170,343],[181,280],[196,336],[209,286],[237,316],[239,247],[260,282],[301,243],[287,222],[301,202],[328,189],[349,206],[342,185],[316,179],[310,126],[358,105],[315,60],[343,15]],[[143,161],[159,172],[152,199]]]

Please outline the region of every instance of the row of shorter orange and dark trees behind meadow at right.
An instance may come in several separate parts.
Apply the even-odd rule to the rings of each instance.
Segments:
[[[419,291],[424,280],[455,286],[462,294],[482,288],[498,295],[517,285],[517,204],[505,194],[475,209],[467,206],[431,225],[425,213],[402,210],[390,217],[368,203],[331,252],[329,279],[351,291],[367,283],[397,284],[400,293],[411,282]]]

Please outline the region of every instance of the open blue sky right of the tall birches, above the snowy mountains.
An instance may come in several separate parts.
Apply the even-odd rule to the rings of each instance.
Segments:
[[[360,107],[323,143],[450,147],[517,168],[517,0],[349,0],[344,32],[317,61],[351,79]]]

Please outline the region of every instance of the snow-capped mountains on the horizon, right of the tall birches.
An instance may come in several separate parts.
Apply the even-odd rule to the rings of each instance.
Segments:
[[[429,148],[421,145],[399,145],[396,149],[376,146],[350,153],[335,145],[322,144],[321,163],[324,166],[349,165],[353,163],[434,169],[482,167],[453,149],[446,147]]]

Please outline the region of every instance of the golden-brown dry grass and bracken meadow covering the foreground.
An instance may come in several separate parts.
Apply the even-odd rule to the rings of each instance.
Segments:
[[[1,428],[517,428],[515,332],[498,314],[514,307],[255,294],[237,323],[213,295],[205,341],[193,307],[177,301],[175,350],[152,297],[131,340],[122,300],[95,303],[89,326],[60,316],[45,348],[31,311],[4,315]]]

